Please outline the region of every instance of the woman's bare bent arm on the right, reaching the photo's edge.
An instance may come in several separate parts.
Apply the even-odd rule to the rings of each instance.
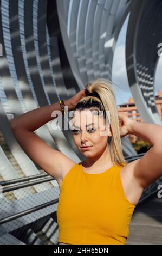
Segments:
[[[146,188],[162,176],[162,126],[132,121],[128,132],[152,145],[141,159],[129,163],[135,179]]]

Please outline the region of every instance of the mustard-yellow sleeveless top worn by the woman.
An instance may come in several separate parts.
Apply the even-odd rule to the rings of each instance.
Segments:
[[[76,245],[125,244],[134,204],[126,198],[122,167],[92,174],[75,164],[64,176],[57,204],[59,242]]]

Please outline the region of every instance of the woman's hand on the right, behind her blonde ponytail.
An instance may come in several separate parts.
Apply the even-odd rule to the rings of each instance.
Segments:
[[[131,125],[134,120],[129,119],[125,115],[118,115],[119,117],[119,129],[120,129],[120,137],[125,137],[131,131]]]

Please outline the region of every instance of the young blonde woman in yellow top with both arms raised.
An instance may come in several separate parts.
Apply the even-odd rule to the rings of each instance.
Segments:
[[[25,153],[59,184],[59,243],[125,244],[142,192],[162,175],[162,127],[119,116],[112,85],[105,79],[87,84],[64,104],[74,111],[70,132],[85,156],[80,163],[34,133],[53,119],[53,111],[58,114],[59,102],[10,121]],[[121,148],[121,137],[128,133],[152,145],[131,163],[125,161]]]

